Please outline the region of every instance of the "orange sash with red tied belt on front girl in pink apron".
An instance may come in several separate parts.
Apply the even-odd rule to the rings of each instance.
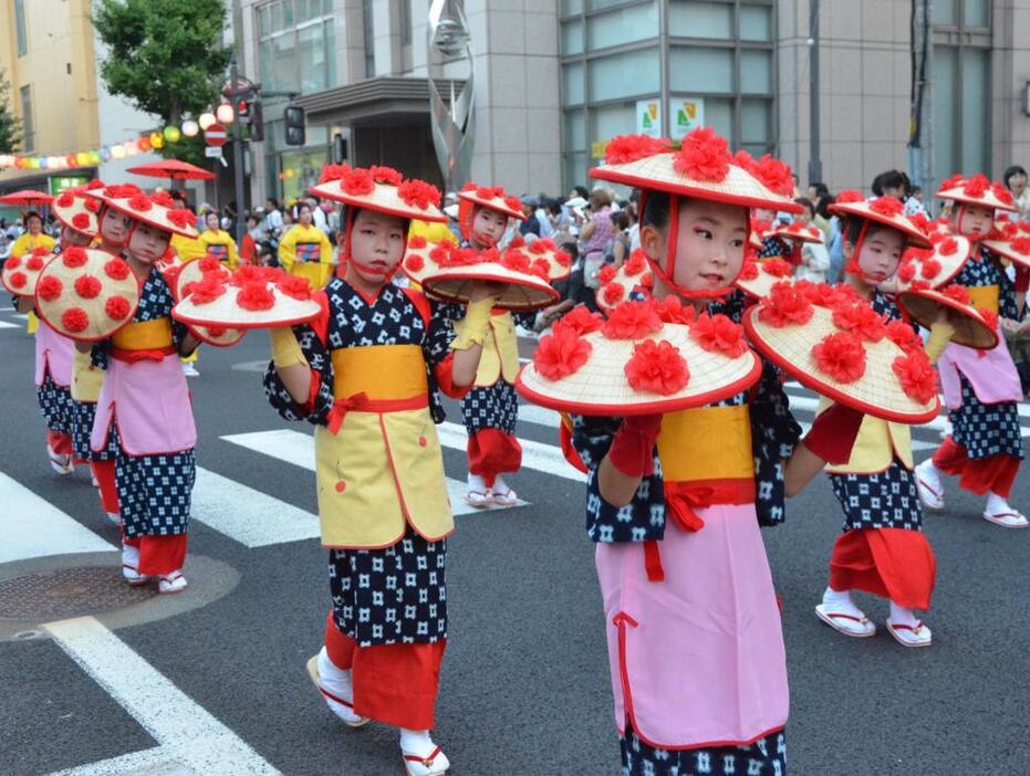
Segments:
[[[658,460],[668,511],[685,531],[704,527],[695,510],[755,503],[755,459],[747,405],[698,407],[662,420]]]

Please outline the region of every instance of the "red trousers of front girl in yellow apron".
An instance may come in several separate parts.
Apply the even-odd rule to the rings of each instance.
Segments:
[[[332,612],[325,622],[325,652],[333,665],[350,670],[354,713],[395,727],[434,727],[440,663],[446,641],[433,644],[358,647],[340,632]]]

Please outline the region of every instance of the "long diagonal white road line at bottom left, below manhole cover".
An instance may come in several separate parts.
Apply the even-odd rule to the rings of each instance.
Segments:
[[[280,773],[95,618],[43,628],[187,773]]]

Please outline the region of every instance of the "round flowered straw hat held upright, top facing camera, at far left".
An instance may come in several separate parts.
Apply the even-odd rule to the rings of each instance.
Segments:
[[[53,329],[79,342],[105,339],[132,322],[139,283],[124,259],[72,247],[46,264],[35,284],[35,308]]]

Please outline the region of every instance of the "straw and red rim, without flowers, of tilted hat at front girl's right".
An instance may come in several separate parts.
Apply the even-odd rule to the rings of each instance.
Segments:
[[[926,423],[937,417],[940,400],[920,403],[908,397],[894,375],[892,365],[905,355],[901,347],[884,337],[878,343],[863,343],[866,348],[865,374],[854,382],[839,382],[815,364],[812,347],[840,329],[833,325],[832,311],[813,305],[809,323],[777,328],[759,321],[759,303],[745,312],[743,328],[751,344],[770,361],[805,388],[837,403],[883,420],[898,423]]]

